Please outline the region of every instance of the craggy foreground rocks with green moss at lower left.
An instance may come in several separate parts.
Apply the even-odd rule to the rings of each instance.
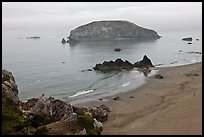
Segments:
[[[110,111],[105,105],[74,111],[68,102],[44,94],[22,102],[7,70],[2,70],[2,100],[3,135],[100,135]]]

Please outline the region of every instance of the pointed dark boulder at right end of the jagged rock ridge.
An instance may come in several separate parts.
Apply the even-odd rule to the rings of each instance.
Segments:
[[[138,68],[154,67],[151,60],[146,55],[144,55],[144,57],[141,61],[135,62],[134,66],[138,67]]]

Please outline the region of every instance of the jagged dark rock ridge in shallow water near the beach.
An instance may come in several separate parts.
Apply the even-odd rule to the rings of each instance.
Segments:
[[[122,69],[131,70],[134,67],[147,69],[154,66],[151,60],[145,55],[141,61],[135,62],[134,64],[118,58],[115,61],[104,61],[102,64],[96,64],[93,69],[101,72],[109,72],[114,70],[121,71]]]

